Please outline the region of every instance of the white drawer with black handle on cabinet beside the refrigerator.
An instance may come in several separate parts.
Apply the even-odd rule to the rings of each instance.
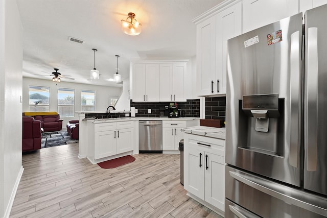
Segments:
[[[193,134],[188,134],[188,136],[185,139],[188,140],[187,144],[191,148],[201,149],[205,152],[225,157],[225,140]]]

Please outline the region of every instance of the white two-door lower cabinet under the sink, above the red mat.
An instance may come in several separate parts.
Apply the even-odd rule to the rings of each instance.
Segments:
[[[132,121],[94,125],[94,158],[101,159],[133,150]],[[92,154],[92,152],[90,152]]]

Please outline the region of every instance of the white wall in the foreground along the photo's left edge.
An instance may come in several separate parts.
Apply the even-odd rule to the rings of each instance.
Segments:
[[[16,1],[0,0],[0,217],[9,217],[22,174],[22,26]]]

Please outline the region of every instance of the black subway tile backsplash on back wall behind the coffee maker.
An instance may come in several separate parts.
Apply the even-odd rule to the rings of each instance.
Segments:
[[[200,117],[200,99],[186,100],[186,102],[176,102],[178,108],[182,109],[184,116]],[[159,117],[160,108],[169,105],[169,102],[130,102],[131,107],[137,109],[135,116]],[[148,113],[151,109],[151,113]]]

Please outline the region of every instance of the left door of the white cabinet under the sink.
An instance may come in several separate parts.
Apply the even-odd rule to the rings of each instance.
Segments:
[[[115,130],[95,133],[95,159],[116,154]]]

